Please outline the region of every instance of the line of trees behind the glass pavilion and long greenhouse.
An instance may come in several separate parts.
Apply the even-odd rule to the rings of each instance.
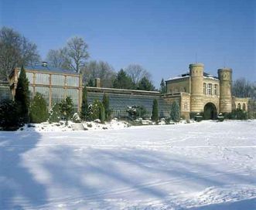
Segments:
[[[108,62],[89,60],[87,42],[74,36],[60,49],[49,49],[46,61],[49,66],[82,73],[87,86],[95,86],[94,79],[101,79],[102,87],[135,90],[157,90],[152,76],[143,66],[130,64],[118,73]],[[42,61],[36,43],[8,27],[0,29],[0,81],[8,81],[15,67],[35,66]]]

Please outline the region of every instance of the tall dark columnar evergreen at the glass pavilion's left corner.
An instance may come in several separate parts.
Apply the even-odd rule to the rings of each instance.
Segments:
[[[19,73],[17,88],[15,90],[15,103],[17,104],[17,111],[20,124],[29,122],[29,80],[26,78],[24,67]]]

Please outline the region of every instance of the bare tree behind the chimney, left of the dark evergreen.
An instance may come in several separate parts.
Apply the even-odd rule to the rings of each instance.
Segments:
[[[112,87],[115,79],[114,68],[107,62],[92,60],[82,69],[84,83],[95,78],[101,79],[101,86]]]

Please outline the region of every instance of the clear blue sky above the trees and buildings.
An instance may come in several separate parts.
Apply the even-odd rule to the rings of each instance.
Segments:
[[[256,81],[255,13],[254,0],[0,0],[0,27],[35,42],[42,59],[81,36],[90,59],[116,71],[140,64],[158,87],[189,63],[214,76],[230,67],[233,80]]]

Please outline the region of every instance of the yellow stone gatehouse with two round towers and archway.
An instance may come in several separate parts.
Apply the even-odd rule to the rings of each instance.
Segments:
[[[231,95],[232,69],[218,69],[218,76],[204,72],[202,63],[189,65],[189,71],[166,80],[166,101],[177,100],[181,115],[202,113],[206,119],[214,119],[218,113],[230,113],[241,108],[247,110],[248,98]]]

